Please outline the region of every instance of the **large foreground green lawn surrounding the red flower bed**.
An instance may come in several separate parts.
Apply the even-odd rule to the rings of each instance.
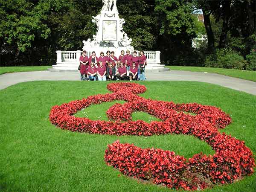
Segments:
[[[81,134],[61,130],[49,122],[53,105],[89,95],[108,93],[108,82],[34,81],[0,90],[0,191],[170,192],[154,184],[140,183],[107,166],[107,145],[116,140],[142,148],[175,151],[186,158],[203,151],[213,154],[207,143],[187,135],[151,137]],[[224,130],[256,154],[256,96],[218,85],[186,81],[145,81],[141,96],[174,102],[214,105],[232,116]],[[122,102],[122,101],[121,101]],[[77,116],[106,119],[105,111],[116,102],[93,105]],[[153,117],[134,113],[133,119],[150,122]],[[256,170],[256,169],[255,169]],[[254,192],[256,173],[230,185],[206,192]]]

